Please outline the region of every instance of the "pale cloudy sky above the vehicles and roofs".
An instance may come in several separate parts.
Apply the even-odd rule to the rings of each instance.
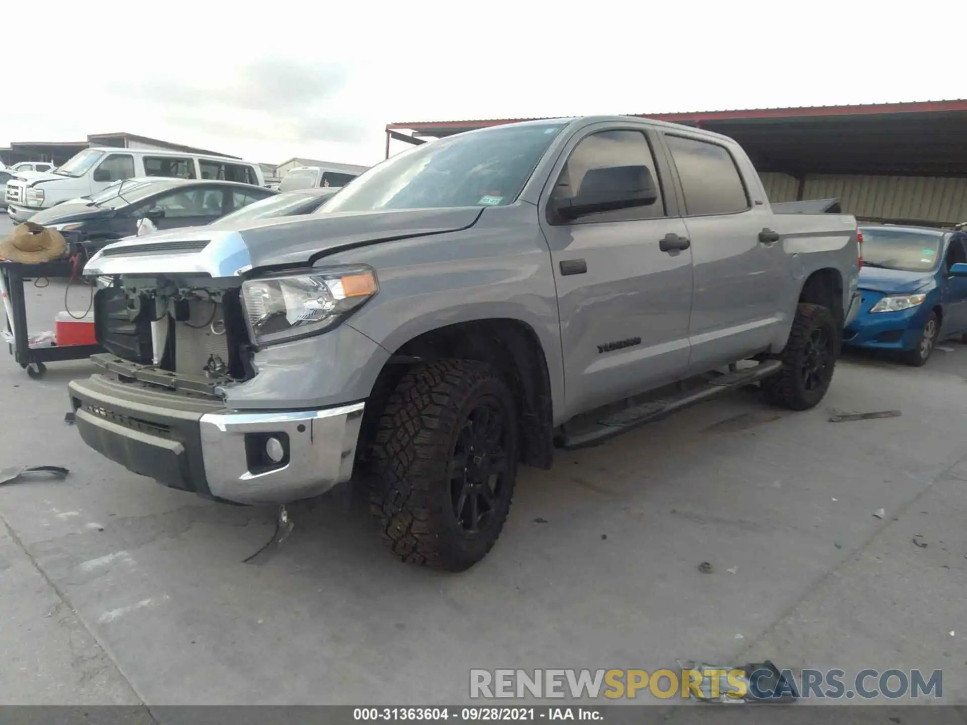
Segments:
[[[10,0],[0,146],[129,131],[373,163],[389,122],[967,98],[938,35],[967,4],[904,7]]]

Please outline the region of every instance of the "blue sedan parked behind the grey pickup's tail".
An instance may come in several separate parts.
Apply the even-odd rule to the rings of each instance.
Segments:
[[[923,365],[938,340],[967,335],[967,234],[862,227],[860,313],[843,344],[892,350]]]

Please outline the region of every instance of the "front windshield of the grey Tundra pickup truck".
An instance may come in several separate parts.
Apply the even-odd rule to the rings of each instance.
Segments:
[[[417,146],[357,177],[322,213],[511,204],[565,126],[502,126]]]

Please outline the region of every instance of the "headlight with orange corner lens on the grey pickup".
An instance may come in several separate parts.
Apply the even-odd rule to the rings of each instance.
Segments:
[[[249,279],[242,284],[249,338],[260,347],[336,327],[379,292],[365,266]]]

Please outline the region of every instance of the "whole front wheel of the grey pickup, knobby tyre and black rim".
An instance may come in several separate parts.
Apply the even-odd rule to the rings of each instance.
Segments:
[[[451,571],[476,564],[513,497],[513,394],[485,362],[420,364],[382,412],[372,447],[370,509],[402,561]]]

